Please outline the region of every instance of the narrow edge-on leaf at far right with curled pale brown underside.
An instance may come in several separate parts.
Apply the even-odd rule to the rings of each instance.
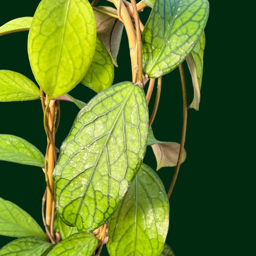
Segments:
[[[203,76],[204,47],[205,47],[205,35],[203,32],[195,48],[192,50],[191,54],[188,55],[187,57],[187,64],[190,70],[193,87],[194,87],[194,98],[191,105],[188,108],[194,108],[195,110],[199,110],[200,90],[201,90],[202,76]]]

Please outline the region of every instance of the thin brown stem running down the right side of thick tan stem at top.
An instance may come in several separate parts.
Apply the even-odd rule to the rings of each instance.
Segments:
[[[136,7],[136,1],[130,0],[133,7],[133,17],[135,21],[135,32],[137,37],[137,62],[138,62],[138,80],[136,82],[142,83],[143,71],[142,71],[142,40],[140,34],[140,22],[139,14]]]

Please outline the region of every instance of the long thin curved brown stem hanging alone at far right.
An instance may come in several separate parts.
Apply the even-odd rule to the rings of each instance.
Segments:
[[[181,77],[181,86],[182,86],[182,97],[183,97],[183,124],[182,124],[182,134],[181,134],[181,143],[180,143],[180,152],[178,155],[177,165],[174,171],[174,176],[172,177],[171,185],[167,193],[168,199],[171,196],[172,190],[174,188],[175,182],[177,180],[178,172],[180,170],[181,159],[184,152],[186,130],[187,130],[187,92],[186,92],[186,82],[185,75],[182,64],[179,65],[180,77]]]

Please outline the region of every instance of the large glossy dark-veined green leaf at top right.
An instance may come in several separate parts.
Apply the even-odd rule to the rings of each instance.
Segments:
[[[181,64],[203,33],[207,0],[155,0],[142,32],[143,70],[158,78]]]

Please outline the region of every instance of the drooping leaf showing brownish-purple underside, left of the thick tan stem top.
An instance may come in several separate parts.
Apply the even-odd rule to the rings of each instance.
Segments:
[[[113,8],[107,6],[98,6],[97,10],[94,8],[94,15],[97,24],[97,36],[105,45],[108,53],[110,54],[115,66],[117,65],[117,54],[123,33],[123,23],[117,18],[114,18],[101,11],[113,12]]]

